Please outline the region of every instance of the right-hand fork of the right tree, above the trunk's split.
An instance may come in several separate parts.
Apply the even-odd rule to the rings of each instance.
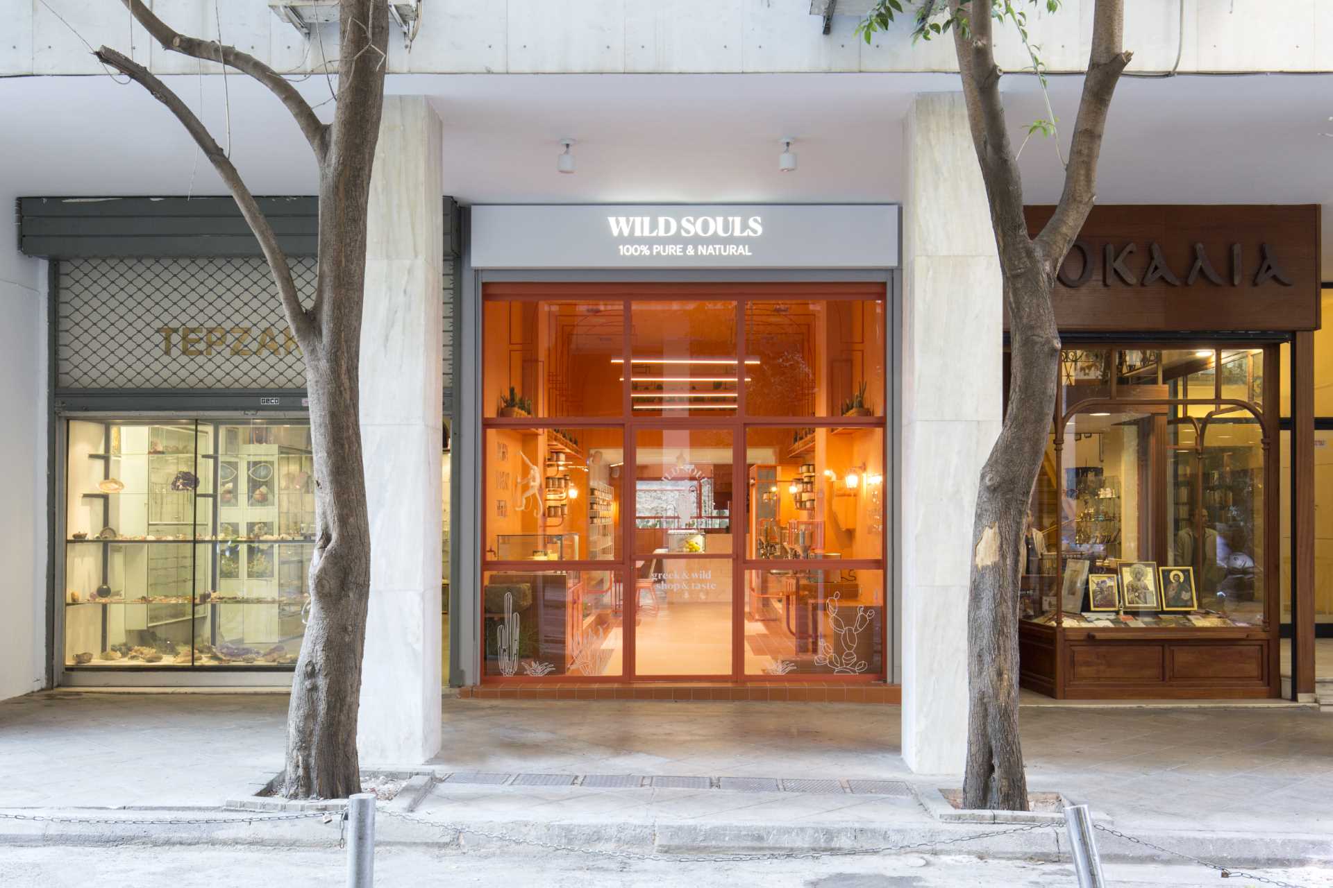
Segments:
[[[1069,146],[1069,166],[1060,204],[1046,226],[1037,236],[1037,249],[1049,262],[1061,262],[1069,245],[1078,237],[1092,205],[1097,200],[1097,154],[1106,130],[1106,113],[1116,92],[1120,73],[1133,53],[1124,52],[1124,0],[1097,0],[1093,9],[1092,52],[1084,77],[1078,118]]]

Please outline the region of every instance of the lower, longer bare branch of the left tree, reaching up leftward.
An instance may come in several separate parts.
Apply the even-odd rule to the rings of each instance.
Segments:
[[[137,0],[136,0],[137,1]],[[139,83],[144,89],[147,89],[153,99],[167,105],[167,109],[176,116],[176,118],[185,126],[191,137],[193,137],[195,144],[199,145],[204,156],[213,164],[213,169],[221,176],[223,182],[225,182],[227,189],[232,193],[236,200],[236,205],[241,210],[241,216],[249,224],[251,230],[259,240],[260,248],[264,250],[264,258],[268,260],[269,268],[273,270],[273,280],[277,282],[277,292],[283,297],[283,308],[287,310],[287,321],[292,325],[292,333],[296,334],[297,342],[305,347],[305,337],[312,330],[311,318],[305,309],[301,308],[301,300],[296,293],[296,284],[292,280],[292,269],[287,262],[287,254],[277,242],[277,236],[273,234],[273,228],[268,224],[264,213],[260,210],[259,204],[255,201],[255,196],[249,193],[245,182],[241,181],[240,173],[236,166],[223,152],[217,141],[209,134],[208,128],[195,116],[195,112],[189,109],[185,103],[180,100],[180,96],[173,93],[167,84],[153,76],[147,68],[133,61],[132,59],[101,47],[96,53],[97,59],[103,64],[111,65],[116,71],[121,72],[131,80]]]

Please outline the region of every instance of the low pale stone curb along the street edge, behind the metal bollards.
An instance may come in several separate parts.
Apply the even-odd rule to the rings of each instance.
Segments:
[[[551,845],[563,845],[587,851],[619,851],[631,853],[656,853],[664,857],[678,855],[781,855],[818,852],[865,852],[865,853],[962,853],[978,857],[1032,859],[1044,861],[1066,861],[1068,841],[1062,828],[1056,824],[1024,824],[1006,828],[1000,823],[885,823],[866,824],[864,821],[828,823],[812,827],[765,827],[756,824],[689,824],[689,823],[579,823],[579,821],[484,821],[452,820],[440,825],[421,820],[403,820],[393,815],[408,813],[429,791],[429,777],[413,777],[412,789],[407,787],[396,797],[380,803],[380,816],[376,817],[379,843],[395,845],[428,845],[453,851],[504,851],[507,853],[551,852]],[[336,845],[340,835],[340,819],[335,815],[328,823],[321,817],[264,823],[259,817],[252,823],[243,820],[245,811],[225,809],[40,809],[24,811],[29,816],[61,816],[80,819],[180,819],[176,825],[107,825],[49,823],[31,820],[0,819],[0,845],[243,845],[269,848],[328,848]],[[15,811],[17,813],[17,811]],[[277,812],[275,811],[276,816]],[[187,819],[232,817],[235,823],[188,824]],[[464,827],[469,832],[453,828]],[[1036,828],[1033,828],[1036,827]],[[477,835],[472,829],[489,833]],[[1017,831],[1017,832],[1014,832]],[[1006,835],[989,835],[1004,832]],[[968,840],[968,836],[986,835],[984,839]],[[1130,833],[1132,835],[1132,833]],[[1181,849],[1189,857],[1208,860],[1228,867],[1301,867],[1317,863],[1333,863],[1333,843],[1326,835],[1297,833],[1218,833],[1218,832],[1164,832],[1148,835],[1153,844],[1170,849]],[[1180,857],[1162,853],[1132,841],[1118,839],[1106,832],[1097,832],[1098,851],[1102,860],[1113,863],[1181,863]],[[874,848],[913,845],[877,852]]]

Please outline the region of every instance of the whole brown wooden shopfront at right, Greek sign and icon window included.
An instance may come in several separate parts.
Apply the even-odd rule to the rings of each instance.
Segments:
[[[1050,212],[1029,208],[1029,226]],[[1293,574],[1313,570],[1298,479],[1318,250],[1317,205],[1092,212],[1053,296],[1061,385],[1020,570],[1022,687],[1280,696],[1282,509]],[[1294,505],[1278,497],[1282,386]]]

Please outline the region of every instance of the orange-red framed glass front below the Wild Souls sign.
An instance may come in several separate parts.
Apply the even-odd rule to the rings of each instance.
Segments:
[[[484,676],[882,680],[884,292],[485,285]]]

